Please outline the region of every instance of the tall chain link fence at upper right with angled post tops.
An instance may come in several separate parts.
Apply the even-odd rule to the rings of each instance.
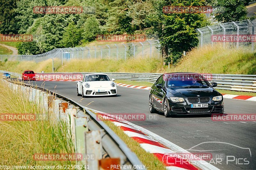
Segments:
[[[222,43],[236,46],[248,46],[255,50],[255,26],[256,20],[244,20],[229,23],[220,23],[212,26],[198,28],[199,46]]]

